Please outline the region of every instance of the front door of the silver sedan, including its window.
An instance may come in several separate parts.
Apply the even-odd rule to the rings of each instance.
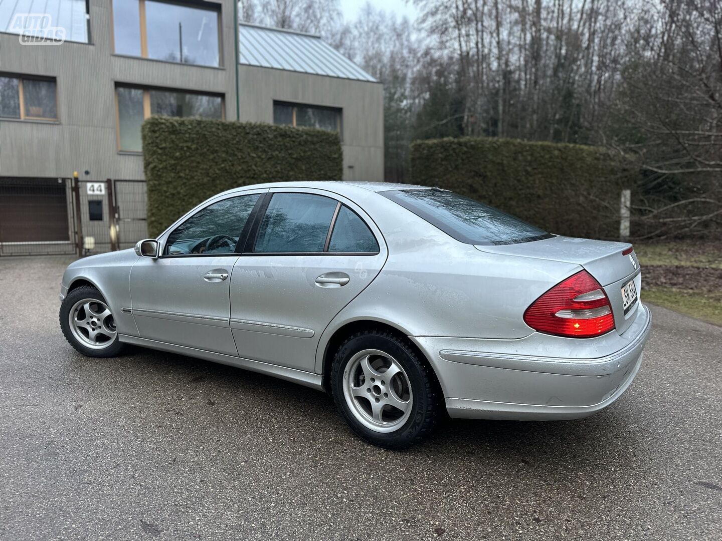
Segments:
[[[229,323],[230,275],[261,193],[213,201],[160,239],[159,258],[139,258],[130,289],[142,338],[238,355]]]

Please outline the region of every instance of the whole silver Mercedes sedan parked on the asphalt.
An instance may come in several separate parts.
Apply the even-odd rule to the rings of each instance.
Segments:
[[[447,190],[283,182],[201,203],[134,250],[71,263],[60,324],[326,390],[409,446],[456,418],[573,419],[617,400],[651,317],[632,246],[559,237]]]

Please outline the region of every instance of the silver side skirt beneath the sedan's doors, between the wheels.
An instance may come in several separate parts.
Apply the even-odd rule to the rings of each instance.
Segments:
[[[118,340],[136,346],[143,346],[144,348],[160,349],[160,351],[179,353],[180,355],[196,357],[196,359],[204,359],[214,363],[237,366],[238,368],[285,379],[287,382],[299,383],[311,389],[323,391],[323,377],[303,370],[278,366],[277,364],[262,363],[261,361],[253,361],[251,359],[243,359],[243,357],[224,355],[223,353],[214,353],[213,351],[176,346],[175,344],[149,340],[148,338],[139,338],[138,336],[118,335]]]

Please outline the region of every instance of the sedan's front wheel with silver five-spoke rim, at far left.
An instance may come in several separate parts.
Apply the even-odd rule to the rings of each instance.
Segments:
[[[70,345],[84,355],[115,357],[123,350],[113,313],[94,287],[70,291],[60,307],[60,327]]]

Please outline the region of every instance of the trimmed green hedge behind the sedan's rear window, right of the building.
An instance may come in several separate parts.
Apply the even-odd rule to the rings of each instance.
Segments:
[[[477,199],[555,234],[619,237],[634,168],[591,146],[503,138],[415,141],[412,182]]]

